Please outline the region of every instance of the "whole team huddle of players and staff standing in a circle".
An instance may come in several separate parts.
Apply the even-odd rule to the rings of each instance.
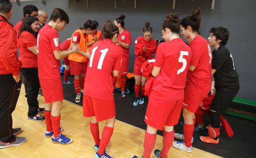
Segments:
[[[53,9],[50,22],[39,29],[37,8],[33,5],[25,6],[32,11],[24,13],[19,26],[15,26],[18,28],[16,34],[8,22],[12,12],[10,4],[9,0],[0,0],[0,29],[12,30],[9,37],[4,37],[6,34],[0,32],[1,37],[15,38],[12,46],[7,48],[3,46],[4,41],[0,41],[0,80],[7,80],[5,87],[1,85],[0,95],[7,95],[7,82],[14,79],[15,84],[12,82],[8,88],[9,94],[16,96],[16,105],[19,92],[15,92],[15,89],[16,86],[21,87],[21,72],[25,78],[28,119],[45,119],[45,136],[51,137],[53,143],[70,144],[72,140],[62,134],[60,109],[64,99],[62,83],[73,83],[68,80],[68,76],[69,73],[74,75],[75,101],[79,103],[83,94],[83,116],[90,117],[95,158],[112,158],[106,152],[106,147],[115,124],[114,87],[117,76],[120,75],[121,94],[125,98],[131,44],[131,34],[124,28],[125,16],[121,15],[113,22],[105,21],[101,31],[98,30],[97,21],[88,20],[60,44],[57,31],[62,31],[69,23],[69,16],[64,10]],[[133,105],[143,104],[145,95],[149,100],[144,120],[147,130],[143,156],[133,155],[131,158],[150,158],[157,130],[164,130],[163,148],[154,150],[157,158],[167,158],[171,146],[192,152],[193,132],[196,119],[199,119],[195,113],[209,95],[214,96],[209,108],[209,135],[201,136],[200,139],[206,143],[219,143],[220,118],[239,90],[238,74],[233,57],[225,47],[229,37],[228,30],[224,27],[212,27],[210,37],[208,40],[204,39],[198,31],[201,15],[200,8],[196,8],[190,16],[180,21],[178,13],[169,13],[161,25],[164,42],[158,44],[151,37],[152,27],[149,22],[143,27],[143,36],[135,40]],[[180,38],[180,34],[186,41]],[[19,58],[14,46],[20,50]],[[3,58],[6,54],[10,54],[12,61]],[[64,59],[66,64],[64,81],[60,78],[60,59]],[[7,62],[12,64],[8,65]],[[44,108],[38,106],[39,84],[45,98]],[[5,100],[13,102],[13,99]],[[1,98],[0,107],[4,104],[6,103]],[[44,116],[38,112],[44,112]],[[178,124],[181,112],[184,133],[175,133],[173,126]],[[3,120],[9,121],[9,117]],[[101,138],[99,121],[106,121]],[[200,127],[199,124],[198,126]],[[10,130],[15,129],[12,124],[5,124],[3,129],[0,132],[0,148],[25,142],[24,137],[14,136],[15,130]],[[174,137],[181,141],[174,141]]]

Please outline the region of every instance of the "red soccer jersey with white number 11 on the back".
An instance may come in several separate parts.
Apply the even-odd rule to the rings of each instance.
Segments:
[[[111,39],[93,45],[85,76],[85,95],[102,100],[113,99],[112,74],[113,70],[120,69],[122,54],[122,48]]]

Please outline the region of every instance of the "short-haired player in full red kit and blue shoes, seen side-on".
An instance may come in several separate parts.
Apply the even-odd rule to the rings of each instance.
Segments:
[[[57,31],[62,31],[69,23],[67,13],[59,8],[54,8],[50,22],[46,24],[37,36],[37,66],[38,77],[45,99],[46,137],[51,137],[52,142],[69,144],[71,139],[62,135],[60,131],[60,108],[62,106],[63,90],[60,78],[60,59],[67,57],[72,52],[79,52],[78,46],[70,50],[61,51]],[[79,52],[80,53],[80,52]],[[82,53],[85,55],[85,53]]]

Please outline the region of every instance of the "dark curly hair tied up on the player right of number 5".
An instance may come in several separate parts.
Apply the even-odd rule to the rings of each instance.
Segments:
[[[201,16],[202,11],[199,7],[197,7],[196,9],[191,11],[191,16],[186,16],[180,21],[180,25],[182,25],[185,30],[187,30],[188,26],[191,26],[193,31],[198,32],[201,25]]]

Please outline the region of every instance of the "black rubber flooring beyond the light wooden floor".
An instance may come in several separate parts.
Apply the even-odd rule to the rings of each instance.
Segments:
[[[73,80],[73,77],[70,76],[69,80]],[[63,85],[63,90],[64,98],[75,103],[76,94],[74,85]],[[138,105],[137,107],[133,106],[134,92],[127,94],[126,98],[121,98],[120,92],[115,92],[114,98],[116,119],[138,128],[146,129],[144,117],[148,103],[147,98],[143,105]],[[81,101],[78,105],[83,105],[83,102]],[[256,122],[227,114],[225,114],[224,117],[228,120],[235,133],[232,138],[229,138],[222,128],[219,144],[206,144],[199,139],[200,135],[208,134],[205,129],[194,133],[193,147],[225,158],[256,158]],[[182,121],[182,117],[180,121]],[[205,115],[204,124],[208,125],[209,123],[210,119]],[[180,124],[175,126],[176,133],[181,130],[182,126]],[[157,134],[163,135],[162,131],[158,131]]]

